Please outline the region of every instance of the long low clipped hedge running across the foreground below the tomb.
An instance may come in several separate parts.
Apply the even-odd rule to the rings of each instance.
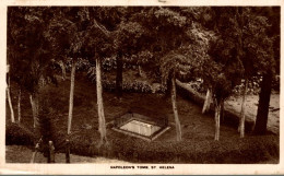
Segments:
[[[59,138],[56,139],[56,141]],[[38,139],[37,139],[38,140]],[[249,164],[279,160],[280,140],[273,134],[247,136],[244,139],[232,138],[224,141],[198,140],[181,142],[147,142],[121,133],[108,133],[108,145],[98,148],[97,130],[83,130],[70,138],[71,153],[139,163],[218,163]],[[9,124],[7,126],[7,144],[33,145],[33,133],[25,128]],[[57,152],[64,152],[63,145],[55,142]]]

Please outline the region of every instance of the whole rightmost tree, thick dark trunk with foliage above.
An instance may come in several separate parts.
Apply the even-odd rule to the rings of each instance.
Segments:
[[[275,64],[280,63],[280,8],[259,8],[256,11],[258,11],[261,15],[268,17],[268,23],[270,24],[270,27],[267,30],[264,36],[273,38],[273,43],[269,43],[271,44],[270,46],[263,45],[265,44],[265,42],[268,42],[268,39],[261,43],[263,45],[263,48],[273,48],[273,54],[271,54],[270,51],[269,54],[264,55],[269,57],[269,59],[267,59],[267,61],[264,62],[267,69],[262,72],[263,77],[260,84],[261,91],[259,94],[259,106],[255,126],[255,133],[264,134],[267,132],[272,79],[275,72],[280,71],[279,68],[275,67],[280,66]]]

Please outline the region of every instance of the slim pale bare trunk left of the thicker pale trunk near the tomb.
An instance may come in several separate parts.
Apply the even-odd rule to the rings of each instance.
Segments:
[[[74,86],[75,86],[75,61],[72,61],[69,114],[68,114],[68,130],[67,130],[68,134],[71,133],[71,122],[72,122],[72,117],[73,117],[73,102],[74,102]]]

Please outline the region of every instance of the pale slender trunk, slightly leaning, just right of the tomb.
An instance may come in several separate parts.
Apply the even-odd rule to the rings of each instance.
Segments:
[[[181,127],[180,121],[178,118],[178,110],[177,110],[177,104],[176,104],[176,79],[175,75],[171,78],[171,103],[173,103],[173,110],[175,116],[175,122],[176,122],[176,131],[177,131],[177,141],[181,141]]]

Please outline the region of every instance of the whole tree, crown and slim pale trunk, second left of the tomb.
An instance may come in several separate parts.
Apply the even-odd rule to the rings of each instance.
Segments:
[[[68,134],[71,133],[74,101],[74,83],[76,61],[82,58],[82,46],[86,34],[86,8],[58,9],[58,15],[52,19],[49,32],[50,40],[59,62],[71,61],[70,98],[68,114]]]

